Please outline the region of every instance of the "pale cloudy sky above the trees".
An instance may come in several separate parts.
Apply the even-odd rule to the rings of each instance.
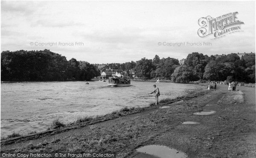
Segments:
[[[201,17],[236,11],[238,32],[198,36]],[[1,52],[44,49],[92,64],[255,52],[255,2],[1,1]]]

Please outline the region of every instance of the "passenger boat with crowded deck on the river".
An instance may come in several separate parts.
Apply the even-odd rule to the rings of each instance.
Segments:
[[[128,87],[131,85],[131,79],[128,76],[116,77],[113,76],[108,79],[108,85],[116,87]]]

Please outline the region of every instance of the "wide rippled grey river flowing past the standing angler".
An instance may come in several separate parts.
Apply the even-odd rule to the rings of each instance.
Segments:
[[[149,94],[156,84],[159,99],[201,91],[201,85],[168,82],[135,82],[130,87],[111,87],[106,82],[1,83],[1,137],[47,130],[53,120],[67,123],[85,116],[111,113],[122,107],[143,107],[154,102]]]

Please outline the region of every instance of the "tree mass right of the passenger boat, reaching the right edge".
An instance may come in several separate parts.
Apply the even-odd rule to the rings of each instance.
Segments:
[[[217,55],[218,56],[218,55]],[[172,82],[188,83],[189,81],[240,81],[255,83],[255,54],[227,54],[219,57],[207,56],[193,52],[182,65],[174,58],[143,58],[134,67],[135,75],[143,79],[165,77]]]

